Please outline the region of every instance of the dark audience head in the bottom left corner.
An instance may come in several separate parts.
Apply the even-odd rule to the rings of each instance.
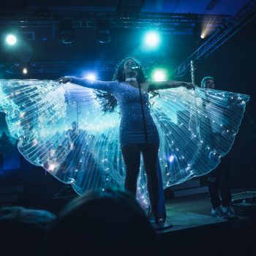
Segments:
[[[0,255],[38,255],[54,219],[49,211],[19,206],[0,208]]]

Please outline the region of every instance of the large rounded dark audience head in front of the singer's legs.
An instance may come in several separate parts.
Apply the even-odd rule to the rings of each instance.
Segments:
[[[43,255],[163,255],[162,244],[137,201],[113,189],[88,192],[56,218]]]

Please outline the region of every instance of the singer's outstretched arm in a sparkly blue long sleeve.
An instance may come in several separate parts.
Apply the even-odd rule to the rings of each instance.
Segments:
[[[102,91],[108,91],[113,93],[114,89],[116,88],[116,81],[99,81],[99,80],[89,80],[86,78],[75,78],[75,77],[63,77],[59,78],[57,81],[59,83],[75,83],[79,86],[91,88],[91,89],[98,89]]]

